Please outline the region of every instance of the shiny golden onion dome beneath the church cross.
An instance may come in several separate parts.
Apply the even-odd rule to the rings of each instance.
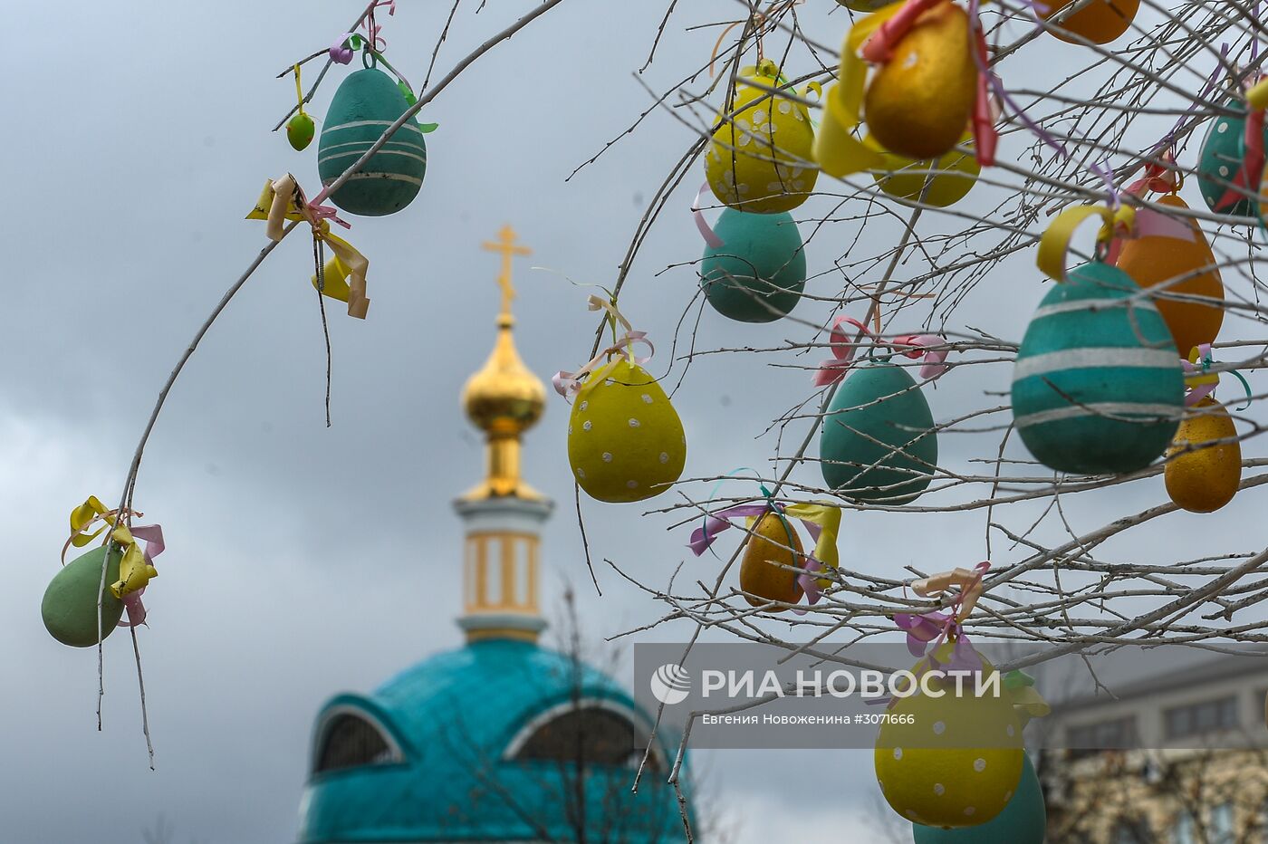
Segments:
[[[545,385],[515,350],[514,322],[508,313],[498,317],[493,352],[463,388],[467,417],[482,431],[501,436],[519,436],[531,428],[547,403]]]

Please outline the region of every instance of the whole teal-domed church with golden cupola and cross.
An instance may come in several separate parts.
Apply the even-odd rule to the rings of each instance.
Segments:
[[[322,707],[299,840],[682,840],[659,738],[630,790],[648,713],[578,653],[538,644],[540,530],[553,504],[520,478],[520,445],[545,390],[511,333],[511,257],[526,250],[510,227],[486,248],[502,253],[502,309],[493,352],[463,394],[488,455],[484,480],[454,503],[467,530],[458,618],[467,643]],[[435,603],[418,597],[422,611]]]

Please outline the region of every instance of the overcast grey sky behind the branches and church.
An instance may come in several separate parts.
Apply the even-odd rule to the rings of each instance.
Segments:
[[[448,4],[398,5],[383,18],[388,56],[417,85]],[[477,4],[465,3],[434,79],[530,5],[491,0],[476,15]],[[645,74],[656,90],[708,60],[716,30],[685,29],[737,9],[723,0],[690,5]],[[10,118],[0,171],[9,269],[0,341],[5,840],[138,841],[160,814],[181,843],[293,840],[309,729],[323,700],[372,689],[460,643],[450,620],[460,603],[462,532],[449,502],[479,478],[483,456],[458,394],[491,347],[497,305],[497,259],[479,242],[508,222],[534,248],[517,267],[520,350],[543,378],[573,368],[588,356],[596,322],[586,291],[529,266],[610,284],[647,200],[692,139],[656,113],[563,181],[649,105],[631,72],[663,4],[566,0],[482,58],[425,112],[440,129],[427,139],[418,199],[394,217],[354,219],[349,240],[370,259],[373,304],[365,322],[331,309],[330,430],[307,240],[276,250],[186,368],[142,466],[136,503],[164,525],[169,546],[141,635],[157,762],[150,772],[127,635],[107,643],[98,732],[94,654],[49,639],[39,599],[57,570],[67,512],[89,494],[118,498],[157,388],[262,245],[262,224],[242,217],[264,180],[290,170],[316,191],[316,144],[295,153],[269,133],[294,96],[290,81],[274,75],[328,44],[358,6],[67,1],[33,9],[0,53],[0,105]],[[846,16],[820,18],[814,35],[839,43]],[[332,72],[314,115],[345,72]],[[668,366],[675,323],[695,289],[690,266],[657,275],[699,257],[686,212],[699,179],[690,181],[653,229],[623,297],[635,326],[659,341],[657,371]],[[814,200],[808,213],[831,203]],[[928,221],[937,228],[937,215]],[[812,272],[846,248],[836,237],[828,227],[808,246]],[[1019,337],[1041,289],[1025,261],[1013,266],[1006,284],[969,297],[964,322]],[[827,279],[818,293],[838,288],[839,279]],[[805,303],[796,313],[822,321],[828,312]],[[806,336],[794,323],[742,326],[706,312],[699,343],[761,347]],[[767,362],[737,355],[690,371],[676,395],[689,431],[687,475],[766,465],[775,444],[753,438],[812,389],[804,373]],[[929,390],[936,417],[1002,402],[983,390],[1007,389],[1007,366],[962,371],[954,389],[943,380]],[[560,501],[545,534],[544,601],[557,606],[571,580],[587,631],[601,639],[662,611],[611,572],[600,572],[602,598],[588,585],[571,512],[566,417],[567,406],[552,397],[524,461],[529,480]],[[970,437],[948,438],[951,461],[980,454],[962,445]],[[813,483],[818,471],[808,473]],[[1159,494],[1120,490],[1115,506],[1135,509]],[[1226,523],[1249,517],[1248,507],[1245,497],[1235,502]],[[668,518],[642,518],[642,509],[587,504],[591,542],[596,559],[612,556],[663,584],[683,559],[685,531],[667,534]],[[1094,527],[1103,503],[1078,502],[1069,515]],[[890,575],[907,563],[942,569],[984,554],[980,513],[924,516],[919,530],[895,528],[899,518],[848,517],[843,554]],[[1145,553],[1170,540],[1134,541],[1134,553]],[[689,566],[692,578],[711,580],[716,560]],[[678,626],[649,637],[689,634]],[[718,751],[697,763],[713,772],[741,843],[839,839],[875,800],[870,753]],[[799,797],[808,779],[833,797]]]

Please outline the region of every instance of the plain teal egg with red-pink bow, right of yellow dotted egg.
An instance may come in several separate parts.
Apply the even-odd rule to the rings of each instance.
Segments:
[[[819,466],[850,501],[907,504],[938,463],[933,414],[904,366],[864,360],[837,388],[819,437]]]

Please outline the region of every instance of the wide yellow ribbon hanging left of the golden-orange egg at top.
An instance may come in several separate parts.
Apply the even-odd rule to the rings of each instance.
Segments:
[[[883,163],[881,153],[855,137],[862,122],[864,86],[867,81],[867,63],[858,49],[902,8],[902,3],[895,3],[867,15],[850,28],[841,47],[841,81],[828,89],[824,99],[827,114],[814,137],[814,160],[829,176],[841,179]]]

